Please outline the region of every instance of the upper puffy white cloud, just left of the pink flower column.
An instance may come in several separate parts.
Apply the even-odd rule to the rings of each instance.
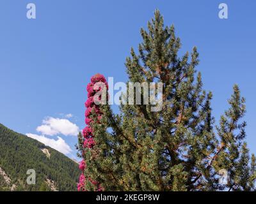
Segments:
[[[36,128],[36,131],[42,133],[42,135],[50,136],[57,134],[62,134],[65,136],[77,136],[79,128],[76,124],[70,122],[68,119],[47,117],[45,120],[43,120],[42,126],[38,126]]]

